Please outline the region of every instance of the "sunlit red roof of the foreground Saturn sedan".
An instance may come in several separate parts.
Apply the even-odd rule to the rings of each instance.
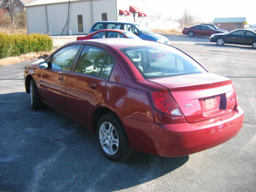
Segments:
[[[146,40],[136,40],[136,39],[128,39],[128,38],[104,38],[104,39],[92,39],[92,40],[82,40],[71,42],[69,44],[92,44],[95,42],[96,44],[100,45],[108,45],[112,46],[116,49],[124,48],[124,47],[135,47],[135,46],[168,46],[166,44],[146,41]]]

